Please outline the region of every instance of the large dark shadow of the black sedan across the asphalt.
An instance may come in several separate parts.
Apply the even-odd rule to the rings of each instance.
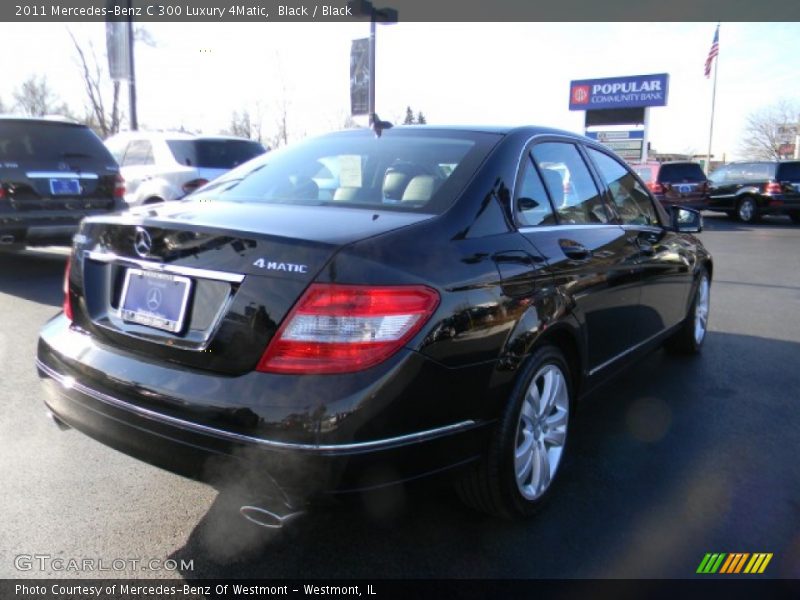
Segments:
[[[760,548],[796,577],[800,537],[783,525],[800,518],[791,356],[800,344],[711,332],[698,357],[638,362],[576,412],[562,478],[529,520],[473,512],[439,487],[274,531],[222,491],[170,558],[193,561],[187,579],[635,578],[691,577],[705,552]]]

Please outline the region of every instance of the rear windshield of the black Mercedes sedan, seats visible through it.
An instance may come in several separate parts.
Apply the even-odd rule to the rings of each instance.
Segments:
[[[390,130],[305,140],[270,152],[192,199],[410,210],[446,209],[500,139],[489,133]]]

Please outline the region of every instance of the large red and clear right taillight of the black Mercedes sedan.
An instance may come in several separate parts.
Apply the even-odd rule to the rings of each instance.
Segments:
[[[425,286],[314,283],[270,342],[256,369],[266,373],[344,373],[397,352],[439,305]]]

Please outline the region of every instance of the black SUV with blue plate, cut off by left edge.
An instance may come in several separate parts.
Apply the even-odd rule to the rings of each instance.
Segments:
[[[124,192],[85,125],[0,117],[0,249],[69,244],[83,217],[124,208]]]

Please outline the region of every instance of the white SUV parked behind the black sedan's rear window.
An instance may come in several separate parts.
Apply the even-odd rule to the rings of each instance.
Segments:
[[[125,132],[106,146],[122,167],[131,206],[177,200],[266,152],[244,138],[176,132]]]

